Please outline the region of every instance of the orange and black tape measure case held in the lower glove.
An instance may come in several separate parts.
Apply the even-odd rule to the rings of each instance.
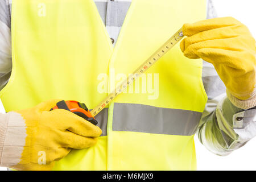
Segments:
[[[79,115],[93,125],[97,125],[98,123],[96,119],[92,116],[92,114],[90,114],[90,111],[84,103],[80,103],[77,101],[60,101],[57,102],[56,106],[54,106],[51,110],[53,109],[65,109],[71,111],[76,115]]]

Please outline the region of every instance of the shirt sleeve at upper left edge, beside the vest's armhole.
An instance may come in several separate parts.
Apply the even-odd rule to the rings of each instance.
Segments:
[[[11,75],[11,15],[9,0],[0,0],[0,90]]]

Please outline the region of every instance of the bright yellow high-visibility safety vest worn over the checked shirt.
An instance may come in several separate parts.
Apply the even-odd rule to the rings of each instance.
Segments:
[[[113,48],[93,0],[13,0],[13,72],[3,105],[11,111],[60,98],[93,109],[108,96],[99,92],[102,74],[117,83],[113,70],[133,73],[205,11],[204,0],[133,0]],[[196,169],[193,136],[207,101],[201,70],[202,61],[176,45],[146,73],[146,84],[158,76],[157,98],[122,93],[96,117],[103,131],[97,144],[72,150],[54,169]]]

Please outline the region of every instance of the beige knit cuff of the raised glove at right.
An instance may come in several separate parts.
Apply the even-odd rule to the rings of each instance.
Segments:
[[[250,109],[254,106],[256,106],[256,89],[254,89],[253,93],[251,93],[251,97],[248,98],[247,100],[240,100],[236,97],[234,97],[228,89],[226,89],[226,95],[228,96],[230,102],[241,109]]]

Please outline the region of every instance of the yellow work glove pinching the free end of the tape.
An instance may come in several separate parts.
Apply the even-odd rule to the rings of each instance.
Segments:
[[[255,40],[248,28],[232,17],[183,25],[187,38],[181,51],[190,59],[212,63],[228,91],[240,100],[250,98],[255,86]]]

